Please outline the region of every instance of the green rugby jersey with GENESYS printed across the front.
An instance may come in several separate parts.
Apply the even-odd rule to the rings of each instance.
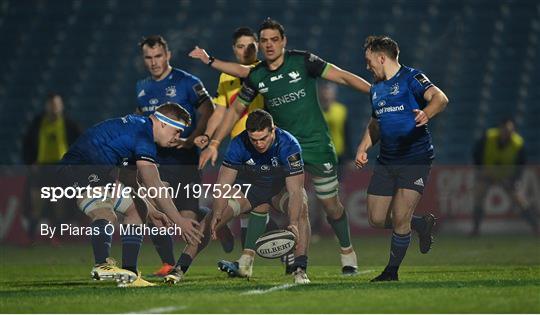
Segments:
[[[329,64],[304,51],[287,50],[283,64],[276,70],[266,62],[250,70],[238,94],[249,105],[258,94],[275,124],[298,139],[302,154],[328,152],[335,154],[328,126],[317,97],[317,78]]]

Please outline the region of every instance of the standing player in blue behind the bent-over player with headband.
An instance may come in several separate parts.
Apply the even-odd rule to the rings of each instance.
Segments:
[[[191,126],[183,131],[182,139],[176,147],[158,149],[157,158],[162,168],[162,179],[175,189],[179,184],[182,187],[200,184],[201,175],[197,168],[199,149],[193,145],[193,140],[204,132],[208,119],[214,112],[211,98],[197,77],[170,65],[171,52],[162,36],[145,37],[139,47],[150,76],[137,82],[136,111],[147,116],[154,112],[158,104],[175,102],[193,117]],[[179,194],[174,203],[185,217],[201,221],[207,214],[204,208],[199,208],[199,200],[188,198],[187,194]],[[224,230],[228,231],[228,227],[224,227],[222,231]],[[230,231],[225,235],[230,236],[229,242],[234,242]],[[173,239],[170,235],[154,235],[152,242],[162,261],[162,267],[154,275],[161,277],[177,264],[182,266],[184,273],[187,272],[195,256],[204,248],[185,248],[175,262]]]

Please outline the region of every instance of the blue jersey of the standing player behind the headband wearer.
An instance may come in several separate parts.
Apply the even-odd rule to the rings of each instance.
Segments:
[[[174,102],[182,106],[191,115],[191,125],[182,132],[182,138],[187,138],[197,127],[197,108],[210,95],[206,88],[194,75],[183,70],[173,68],[171,73],[160,81],[147,77],[137,82],[137,103],[141,112],[148,116],[156,110],[156,107]],[[191,149],[159,148],[160,164],[197,164],[198,150]]]

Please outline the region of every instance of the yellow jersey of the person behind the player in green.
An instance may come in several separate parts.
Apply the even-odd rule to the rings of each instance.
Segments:
[[[257,63],[259,62],[257,61],[255,64],[253,64],[253,66],[255,66]],[[242,81],[239,78],[233,77],[226,73],[222,73],[219,76],[218,90],[217,90],[216,97],[214,97],[214,100],[213,100],[214,104],[228,108],[229,106],[231,106],[231,104],[234,102],[234,100],[238,96],[238,92],[240,92],[241,88],[242,88]],[[239,135],[242,131],[246,129],[247,115],[251,113],[252,111],[259,108],[264,108],[264,101],[260,94],[257,95],[255,100],[242,113],[242,116],[234,125],[231,131],[231,138],[236,137],[237,135]]]

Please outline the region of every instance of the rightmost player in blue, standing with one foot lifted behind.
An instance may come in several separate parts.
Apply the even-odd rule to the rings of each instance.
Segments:
[[[414,216],[434,158],[427,123],[443,111],[448,98],[427,76],[398,61],[398,44],[386,36],[369,36],[364,44],[367,69],[374,83],[372,117],[358,146],[356,166],[368,163],[367,151],[380,141],[380,154],[368,187],[369,223],[393,229],[390,259],[371,281],[396,281],[411,240],[419,235],[420,251],[432,244],[433,215]]]

